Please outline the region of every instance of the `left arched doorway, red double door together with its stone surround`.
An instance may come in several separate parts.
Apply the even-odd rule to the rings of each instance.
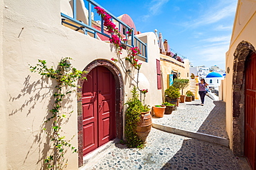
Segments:
[[[123,82],[121,72],[111,61],[91,62],[88,81],[80,79],[77,88],[78,158],[113,138],[122,138]]]

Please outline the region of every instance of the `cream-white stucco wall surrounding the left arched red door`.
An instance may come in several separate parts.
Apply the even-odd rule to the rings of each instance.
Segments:
[[[83,70],[95,59],[110,61],[116,54],[113,45],[61,25],[60,0],[0,0],[0,7],[3,9],[0,10],[0,34],[3,34],[0,36],[0,132],[3,132],[0,140],[0,169],[40,169],[40,158],[46,154],[46,135],[42,131],[42,124],[47,111],[51,109],[49,104],[53,102],[51,95],[54,85],[51,79],[31,73],[28,64],[36,65],[38,59],[44,59],[48,66],[56,66],[60,59],[69,56],[74,59],[71,61],[73,67]],[[143,63],[141,73],[149,82],[146,102],[154,105],[161,103],[161,90],[156,86],[158,45],[154,43],[156,36],[153,32],[140,36],[149,50],[148,63],[140,61]],[[116,65],[120,66],[119,63]],[[127,78],[123,77],[123,80],[126,101],[131,86]],[[75,92],[69,99],[71,101],[67,107],[71,108],[68,110],[74,112],[63,131],[66,139],[75,135],[71,144],[77,148]],[[67,169],[77,169],[77,154],[68,152],[67,156]]]

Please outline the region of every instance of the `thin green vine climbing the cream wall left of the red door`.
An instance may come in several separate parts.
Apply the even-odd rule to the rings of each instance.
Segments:
[[[53,93],[54,105],[48,113],[45,123],[51,123],[50,129],[44,129],[46,134],[50,138],[48,143],[51,143],[51,151],[48,153],[49,156],[44,159],[44,163],[48,169],[64,169],[68,160],[64,158],[68,148],[71,148],[73,153],[77,152],[75,147],[71,146],[70,140],[66,140],[65,136],[62,136],[60,132],[62,131],[62,121],[66,118],[67,114],[64,113],[63,100],[66,95],[71,94],[73,91],[72,88],[76,87],[76,82],[78,78],[82,78],[82,74],[86,74],[86,71],[80,71],[71,67],[69,62],[71,58],[66,57],[60,61],[57,65],[57,69],[46,65],[46,61],[38,60],[39,63],[35,67],[30,65],[31,72],[37,72],[42,76],[47,76],[56,81],[57,85],[55,86],[55,92]],[[86,79],[86,77],[83,77]],[[49,132],[50,131],[50,132]],[[73,136],[74,137],[74,136]],[[72,138],[71,138],[72,139]]]

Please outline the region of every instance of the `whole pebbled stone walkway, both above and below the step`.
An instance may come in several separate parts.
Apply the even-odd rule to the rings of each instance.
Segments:
[[[204,106],[199,105],[199,100],[181,103],[171,115],[154,118],[154,121],[216,136],[221,133],[221,137],[226,138],[223,133],[224,119],[220,118],[225,103],[212,101],[208,97],[205,99]],[[147,137],[144,149],[129,149],[126,145],[116,144],[92,162],[86,169],[248,169],[241,166],[244,159],[235,157],[228,147],[154,128]]]

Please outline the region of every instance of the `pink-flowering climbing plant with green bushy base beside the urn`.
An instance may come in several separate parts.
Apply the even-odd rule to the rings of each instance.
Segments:
[[[113,62],[120,62],[121,67],[123,70],[125,70],[125,73],[127,76],[129,76],[132,81],[136,83],[136,87],[134,87],[131,90],[132,97],[129,98],[127,101],[127,110],[125,112],[125,134],[127,137],[127,147],[138,147],[142,148],[144,147],[144,143],[142,140],[138,138],[138,135],[136,133],[136,127],[137,123],[140,120],[140,112],[149,111],[149,106],[145,105],[145,95],[148,92],[147,89],[140,89],[138,87],[138,75],[140,72],[140,67],[142,63],[138,63],[138,59],[135,58],[138,54],[140,54],[140,49],[138,47],[128,47],[128,39],[129,36],[131,36],[132,32],[134,31],[133,28],[128,30],[126,32],[127,39],[124,39],[122,35],[120,34],[118,28],[116,28],[116,25],[111,21],[111,16],[107,14],[107,12],[104,11],[104,9],[96,6],[95,10],[97,10],[97,13],[102,17],[104,21],[104,27],[107,29],[107,32],[111,34],[111,37],[109,39],[110,43],[112,43],[116,47],[116,54],[117,59],[112,58],[111,61]],[[133,67],[135,70],[137,70],[137,80],[135,80],[131,75],[129,75],[129,72],[131,70],[127,70],[125,67],[125,62],[122,61],[120,54],[122,54],[122,50],[127,51],[127,56],[125,57],[125,61],[128,61],[130,66]],[[129,72],[128,72],[129,71]],[[137,89],[140,91],[140,100],[138,99],[138,92]],[[142,94],[144,94],[144,100],[142,104]]]

